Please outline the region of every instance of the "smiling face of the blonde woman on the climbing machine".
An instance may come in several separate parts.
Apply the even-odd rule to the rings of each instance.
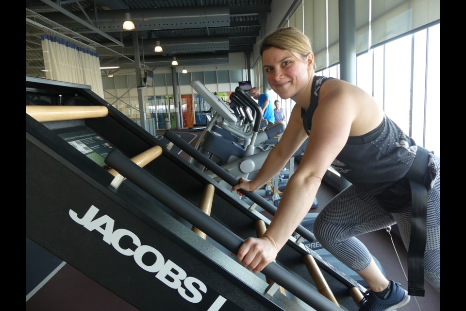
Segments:
[[[308,59],[275,47],[262,53],[268,84],[281,98],[291,98],[308,86],[314,60],[309,62]]]

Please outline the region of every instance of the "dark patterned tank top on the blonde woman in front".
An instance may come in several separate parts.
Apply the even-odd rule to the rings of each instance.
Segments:
[[[301,108],[302,123],[308,134],[317,108],[320,86],[329,79],[333,78],[314,76],[309,108],[307,111]],[[377,128],[362,136],[349,137],[332,167],[361,190],[377,195],[404,177],[413,164],[418,148],[412,138],[384,116]]]

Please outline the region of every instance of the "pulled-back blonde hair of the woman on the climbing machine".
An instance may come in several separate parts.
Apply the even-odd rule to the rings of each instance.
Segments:
[[[306,58],[312,53],[311,40],[295,27],[277,28],[268,33],[260,42],[260,54],[272,47],[287,50]]]

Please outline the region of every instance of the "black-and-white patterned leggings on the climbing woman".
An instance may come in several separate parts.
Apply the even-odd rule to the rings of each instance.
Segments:
[[[437,179],[427,197],[424,276],[440,293],[440,158],[435,157],[435,160],[438,164]],[[325,249],[357,272],[367,268],[372,256],[355,236],[394,224],[398,224],[404,246],[408,249],[411,211],[389,213],[375,197],[350,186],[319,213],[314,234]]]

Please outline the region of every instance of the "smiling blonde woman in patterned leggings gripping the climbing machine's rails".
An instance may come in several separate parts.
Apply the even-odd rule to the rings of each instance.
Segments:
[[[421,251],[421,262],[424,255],[425,277],[440,291],[440,158],[422,153],[425,149],[416,146],[359,87],[317,77],[309,38],[296,28],[281,28],[266,35],[260,53],[268,84],[282,99],[291,98],[296,105],[282,139],[260,172],[253,180],[240,179],[232,190],[261,188],[308,137],[309,142],[266,233],[259,239],[247,239],[237,259],[254,273],[275,259],[308,213],[308,202],[313,202],[324,173],[332,165],[352,185],[319,213],[314,225],[317,240],[369,285],[360,311],[388,311],[407,304],[407,292],[383,276],[369,251],[354,236],[398,223],[403,242],[409,246],[408,184],[420,178],[410,177],[408,181],[406,176],[412,175],[411,167],[419,167],[417,160],[413,165],[415,158],[425,154],[420,165],[423,179],[416,180],[417,185],[422,182],[421,188],[430,190],[428,242],[425,252]]]

